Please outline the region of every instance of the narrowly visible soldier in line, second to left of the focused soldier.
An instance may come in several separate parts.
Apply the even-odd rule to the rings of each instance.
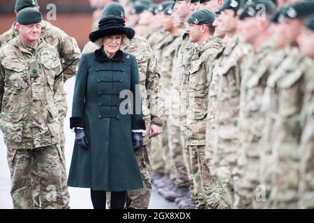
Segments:
[[[161,53],[160,53],[160,68],[162,77],[163,93],[165,95],[170,95],[171,88],[171,75],[173,66],[174,51],[179,46],[179,29],[174,27],[172,22],[172,12],[174,3],[167,6],[163,10],[163,30],[170,31],[170,36],[165,39],[167,42],[164,43]],[[174,183],[174,187],[171,189],[163,187],[158,189],[158,192],[170,201],[174,201],[177,197],[183,197],[188,192],[188,174],[186,172],[186,164],[184,163],[183,148],[181,146],[181,136],[179,126],[172,123],[172,118],[170,118],[170,98],[165,98],[166,102],[166,123],[168,132],[168,142],[170,150],[170,160],[167,162],[172,162],[174,169],[174,176],[172,176],[170,171],[170,179]]]

